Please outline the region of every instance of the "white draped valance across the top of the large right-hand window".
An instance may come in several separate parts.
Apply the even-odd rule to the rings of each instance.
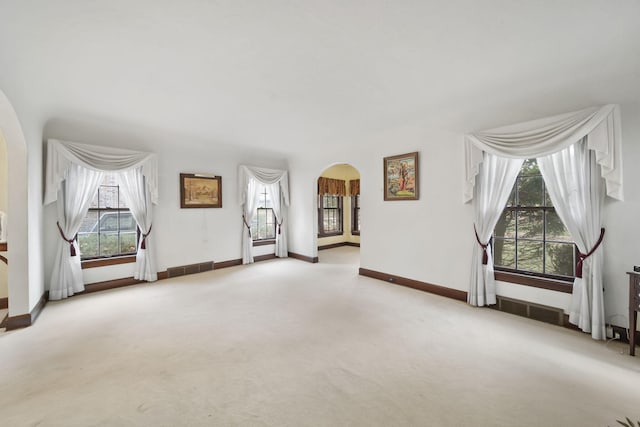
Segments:
[[[596,153],[607,195],[622,200],[620,107],[610,104],[465,135],[464,201],[473,198],[483,151],[512,159],[542,157],[584,137]]]

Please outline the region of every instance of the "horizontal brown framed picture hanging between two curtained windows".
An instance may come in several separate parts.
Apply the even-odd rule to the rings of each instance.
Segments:
[[[181,208],[221,208],[222,177],[215,175],[181,173]]]

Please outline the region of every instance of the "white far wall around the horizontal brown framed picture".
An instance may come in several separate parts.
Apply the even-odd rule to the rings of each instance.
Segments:
[[[238,205],[237,169],[240,164],[269,168],[287,168],[286,160],[266,150],[235,148],[211,142],[201,145],[174,144],[156,140],[153,144],[123,135],[108,135],[100,130],[56,123],[48,126],[47,137],[153,151],[159,161],[159,200],[154,206],[153,233],[156,237],[158,271],[206,261],[229,261],[242,257],[240,233],[242,213]],[[55,136],[54,136],[55,135]],[[222,208],[181,209],[179,175],[207,173],[222,177]],[[55,227],[55,204],[45,207],[45,250],[55,251],[58,234]],[[273,245],[255,248],[255,254],[273,252]],[[53,259],[45,263],[48,288]],[[83,270],[85,283],[95,283],[133,275],[134,264],[122,264]]]

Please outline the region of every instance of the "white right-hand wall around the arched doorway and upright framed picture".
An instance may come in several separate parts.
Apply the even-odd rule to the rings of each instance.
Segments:
[[[628,322],[628,278],[625,272],[640,265],[640,104],[622,104],[625,201],[608,199],[605,250],[605,311],[608,323]],[[499,121],[498,121],[499,123]],[[361,190],[363,212],[361,267],[396,274],[448,288],[467,291],[475,238],[472,205],[463,204],[462,132],[421,126],[399,127],[370,135],[366,153],[345,150],[331,155],[298,156],[290,161],[295,205],[295,234],[290,247],[314,254],[306,228],[314,226],[314,171],[327,161],[354,164],[366,185]],[[400,142],[399,142],[400,141]],[[391,147],[391,148],[387,148]],[[420,199],[383,201],[382,159],[418,151]],[[302,205],[300,205],[302,204]],[[569,294],[498,282],[499,295],[559,307],[569,307]]]

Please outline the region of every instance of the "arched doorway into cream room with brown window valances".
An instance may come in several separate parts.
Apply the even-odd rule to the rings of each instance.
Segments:
[[[360,172],[347,163],[334,164],[320,173],[317,183],[319,262],[330,259],[359,265]],[[333,250],[342,247],[351,249]]]

